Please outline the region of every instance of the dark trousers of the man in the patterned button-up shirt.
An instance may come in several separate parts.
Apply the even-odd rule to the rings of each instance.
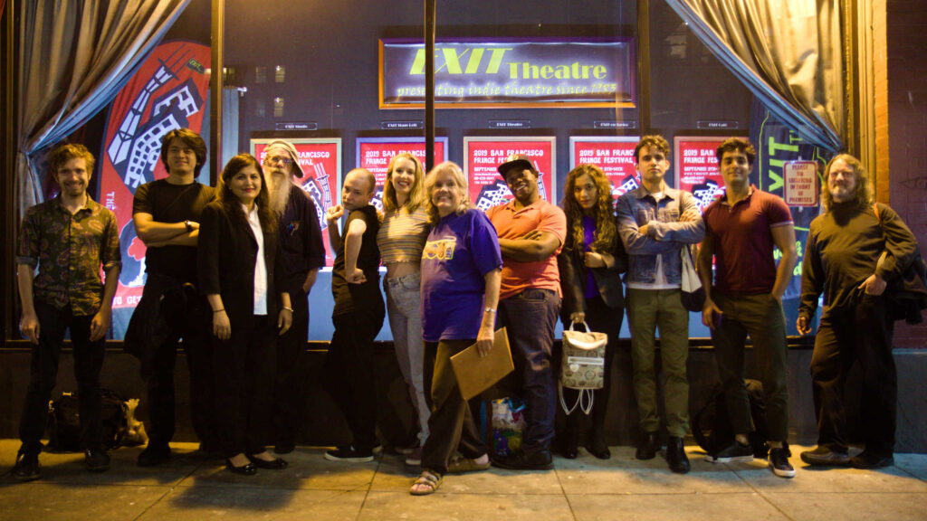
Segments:
[[[19,419],[19,451],[38,454],[42,451],[42,436],[48,420],[48,400],[57,379],[58,358],[64,344],[65,331],[70,329],[74,349],[74,376],[77,379],[81,420],[81,449],[101,449],[100,438],[100,369],[106,352],[106,337],[90,341],[91,315],[74,315],[70,305],[57,310],[44,302],[35,302],[39,320],[39,343],[32,345],[29,388]]]

